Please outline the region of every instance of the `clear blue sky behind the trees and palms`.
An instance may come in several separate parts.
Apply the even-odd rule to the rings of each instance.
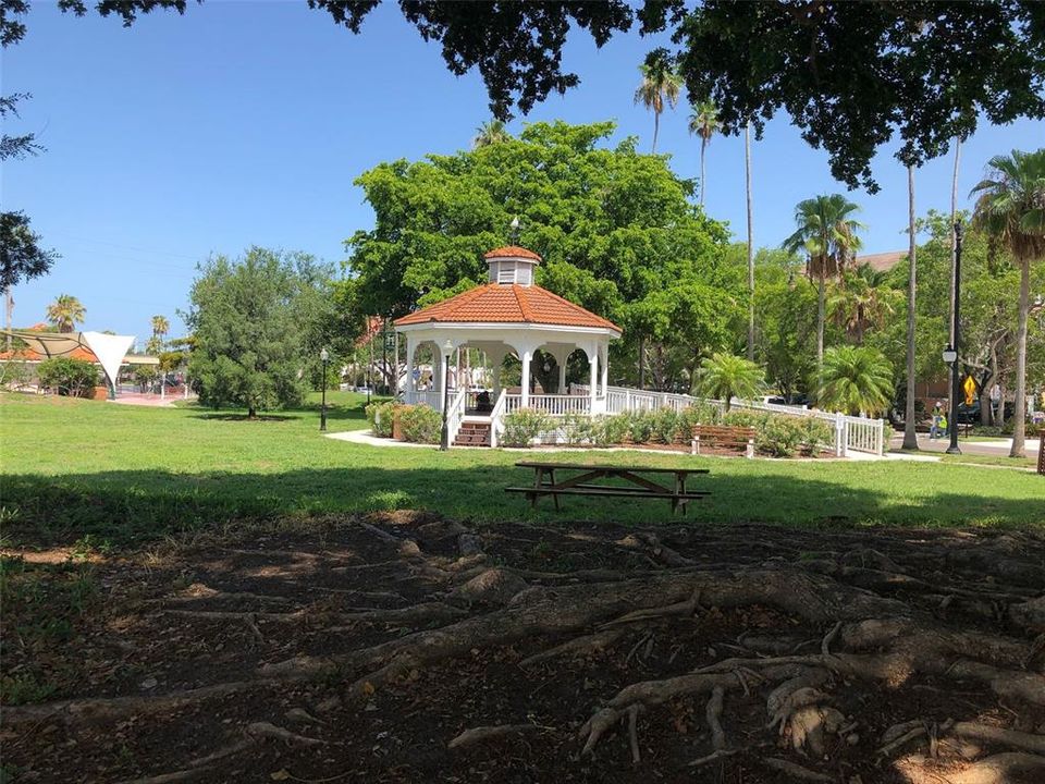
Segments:
[[[130,29],[116,19],[61,14],[37,0],[28,35],[2,50],[3,94],[32,93],[8,133],[35,132],[47,152],[8,161],[4,209],[24,210],[62,258],[14,291],[15,323],[40,321],[58,294],[87,309],[85,329],[145,335],[153,314],[182,331],[196,264],[257,244],[340,261],[343,241],[372,224],[353,181],[396,158],[453,152],[489,119],[478,74],[455,77],[393,4],[353,36],[304,0],[190,4],[184,16],[155,13]],[[602,50],[586,33],[564,65],[581,85],[521,122],[612,119],[619,136],[649,149],[653,118],[632,103],[638,63],[654,46],[635,34]],[[687,112],[661,121],[657,151],[683,176],[699,172],[699,139]],[[986,160],[1035,149],[1042,123],[983,126],[962,148],[959,197]],[[863,210],[869,253],[905,247],[907,176],[883,150],[882,191],[850,194]],[[745,234],[742,138],[715,138],[708,154],[710,215]],[[811,149],[784,115],[753,148],[754,234],[778,245],[802,198],[844,192],[826,155]],[[949,209],[950,157],[918,174],[918,210]]]

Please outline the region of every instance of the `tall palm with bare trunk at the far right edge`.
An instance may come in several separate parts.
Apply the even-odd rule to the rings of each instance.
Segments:
[[[1045,148],[1012,150],[987,162],[973,221],[1012,254],[1020,267],[1020,317],[1016,332],[1016,409],[1010,457],[1023,457],[1026,434],[1026,319],[1031,302],[1031,264],[1045,259]]]

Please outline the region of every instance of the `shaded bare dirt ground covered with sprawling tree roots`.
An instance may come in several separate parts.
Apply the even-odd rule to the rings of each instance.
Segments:
[[[15,781],[1045,781],[1040,535],[397,513],[34,568]]]

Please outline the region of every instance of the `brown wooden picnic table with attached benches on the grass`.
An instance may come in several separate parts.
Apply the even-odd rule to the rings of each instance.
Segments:
[[[686,513],[686,504],[697,501],[711,493],[706,490],[687,490],[686,480],[691,474],[708,474],[706,468],[651,468],[649,466],[618,466],[590,465],[583,463],[542,463],[537,461],[521,461],[515,464],[519,468],[533,469],[532,487],[505,488],[505,492],[524,493],[530,501],[530,506],[537,506],[541,495],[551,495],[555,500],[555,510],[558,506],[560,495],[604,495],[616,498],[660,498],[672,502],[672,512],[679,506]],[[555,471],[579,471],[573,476],[555,481]],[[673,475],[671,487],[653,479],[639,476],[640,474]],[[624,479],[631,482],[629,487],[595,485],[597,479]]]

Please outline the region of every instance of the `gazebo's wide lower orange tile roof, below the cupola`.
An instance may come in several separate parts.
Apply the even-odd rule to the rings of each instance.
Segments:
[[[494,252],[496,253],[496,252]],[[534,323],[557,327],[620,328],[540,286],[487,283],[396,319],[396,327],[429,322]]]

